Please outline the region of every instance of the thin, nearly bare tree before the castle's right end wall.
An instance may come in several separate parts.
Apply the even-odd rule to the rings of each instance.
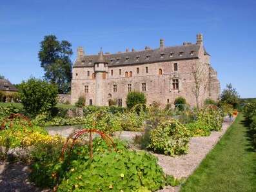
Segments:
[[[208,74],[208,73],[207,73]],[[199,97],[202,93],[206,91],[208,86],[208,77],[206,75],[206,65],[199,63],[192,66],[192,75],[194,80],[194,85],[192,87],[192,93],[195,95],[195,101],[197,103],[197,108],[200,108]]]

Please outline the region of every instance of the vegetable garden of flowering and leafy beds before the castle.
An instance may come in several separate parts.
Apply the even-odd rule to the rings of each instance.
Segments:
[[[130,110],[84,106],[83,111],[83,117],[71,118],[60,112],[55,117],[41,113],[30,122],[12,115],[23,112],[20,109],[0,107],[1,158],[30,162],[30,179],[37,186],[55,191],[157,191],[181,181],[166,175],[148,151],[170,156],[186,154],[190,137],[221,130],[226,115],[213,104],[201,110],[162,109],[154,103],[137,104]],[[75,124],[83,125],[83,129],[68,139],[48,135],[44,129]],[[142,131],[134,143],[144,151],[112,139],[113,133],[123,130]],[[93,139],[92,133],[101,137]],[[26,155],[12,157],[9,149],[17,148],[26,151]]]

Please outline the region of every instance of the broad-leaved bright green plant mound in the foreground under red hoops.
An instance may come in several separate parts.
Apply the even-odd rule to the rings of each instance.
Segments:
[[[95,138],[93,148],[92,160],[89,146],[76,144],[70,157],[59,161],[56,146],[39,146],[32,153],[32,180],[39,186],[57,185],[57,191],[156,191],[177,184],[175,178],[164,175],[157,158],[131,151],[119,140],[115,140],[116,150],[110,150],[106,142]]]

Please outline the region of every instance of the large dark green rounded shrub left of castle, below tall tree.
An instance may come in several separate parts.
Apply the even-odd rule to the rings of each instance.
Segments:
[[[20,85],[21,102],[32,117],[49,112],[57,104],[57,87],[34,77]]]

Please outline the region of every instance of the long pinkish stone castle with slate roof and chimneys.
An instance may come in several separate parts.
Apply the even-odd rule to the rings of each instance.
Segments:
[[[125,107],[128,92],[141,91],[147,104],[155,101],[165,106],[181,96],[191,106],[202,106],[205,99],[216,101],[220,93],[202,34],[197,34],[195,44],[165,46],[161,39],[159,48],[146,46],[142,51],[103,54],[101,50],[98,55],[85,55],[79,47],[72,74],[72,104],[82,96],[86,105],[117,101]]]

